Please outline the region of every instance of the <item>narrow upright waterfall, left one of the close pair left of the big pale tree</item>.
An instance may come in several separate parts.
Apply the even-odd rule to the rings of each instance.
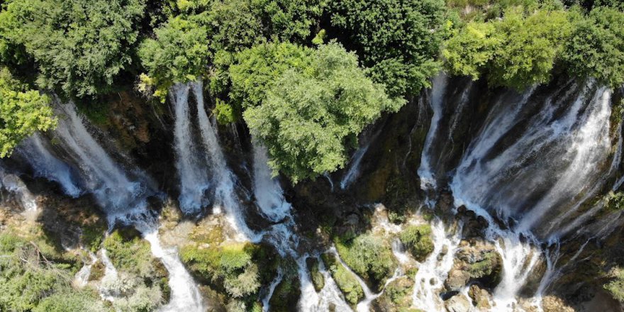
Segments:
[[[176,84],[170,94],[175,107],[174,149],[176,168],[180,179],[180,208],[184,213],[198,213],[208,205],[206,190],[210,186],[206,163],[199,158],[195,145],[189,111],[189,85]]]

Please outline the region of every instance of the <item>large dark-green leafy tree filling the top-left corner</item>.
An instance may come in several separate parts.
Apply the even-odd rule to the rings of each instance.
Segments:
[[[0,13],[2,61],[32,57],[43,89],[104,94],[133,62],[144,9],[144,0],[6,1]]]

